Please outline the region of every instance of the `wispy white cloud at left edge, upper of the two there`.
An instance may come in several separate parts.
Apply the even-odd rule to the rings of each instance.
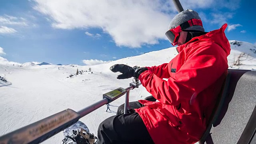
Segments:
[[[14,16],[0,16],[0,24],[8,24],[8,25],[19,25],[19,26],[28,26],[28,22],[25,18],[17,18]]]

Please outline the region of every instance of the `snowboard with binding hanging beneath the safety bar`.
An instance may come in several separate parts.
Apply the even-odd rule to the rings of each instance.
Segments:
[[[72,126],[63,130],[63,137],[64,139],[62,140],[62,144],[94,144],[97,139],[96,136],[90,134],[86,124],[81,121],[78,121]],[[74,142],[78,140],[86,142]]]

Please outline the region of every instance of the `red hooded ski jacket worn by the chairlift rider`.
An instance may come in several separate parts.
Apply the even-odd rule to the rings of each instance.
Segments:
[[[139,100],[145,106],[136,109],[155,144],[193,144],[202,137],[227,74],[226,27],[192,38],[169,63],[140,74],[159,101]]]

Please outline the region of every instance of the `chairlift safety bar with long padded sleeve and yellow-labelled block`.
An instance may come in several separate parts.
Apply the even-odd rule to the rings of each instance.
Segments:
[[[140,85],[140,84],[139,84]],[[68,128],[72,124],[75,124],[80,118],[86,116],[90,112],[100,108],[104,104],[108,104],[117,98],[120,98],[130,90],[138,88],[134,82],[130,83],[130,86],[126,89],[117,88],[103,94],[103,99],[75,112],[71,109],[66,109],[62,112],[34,122],[28,126],[0,136],[0,144],[38,144],[54,136],[58,132]]]

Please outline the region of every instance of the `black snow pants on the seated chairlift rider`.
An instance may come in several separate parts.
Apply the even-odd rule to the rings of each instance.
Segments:
[[[141,108],[139,102],[129,102],[134,110]],[[144,122],[137,112],[124,114],[124,104],[117,115],[104,120],[98,128],[97,144],[154,144]]]

